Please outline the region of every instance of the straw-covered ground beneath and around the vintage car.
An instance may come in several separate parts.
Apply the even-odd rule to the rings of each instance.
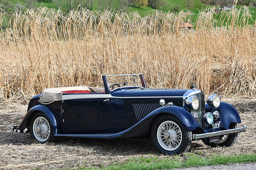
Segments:
[[[256,152],[256,97],[224,98],[239,112],[247,131],[238,135],[231,148],[211,148],[201,141],[193,141],[188,152],[202,156],[214,154],[231,155]],[[26,114],[27,106],[15,103],[0,103],[0,169],[73,169],[79,167],[101,167],[125,163],[132,157],[159,156],[173,159],[174,156],[160,155],[149,139],[96,140],[82,138],[59,138],[54,143],[40,144],[29,134],[10,132]],[[184,159],[186,155],[181,155]]]

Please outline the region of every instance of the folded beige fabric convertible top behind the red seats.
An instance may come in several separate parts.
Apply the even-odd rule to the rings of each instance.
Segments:
[[[88,90],[91,93],[100,93],[105,91],[103,88],[97,87],[88,87],[88,86],[76,86],[76,87],[60,87],[60,88],[46,88],[42,91],[40,96],[40,103],[49,103],[54,101],[62,100],[62,93],[61,91],[68,91],[68,90]]]

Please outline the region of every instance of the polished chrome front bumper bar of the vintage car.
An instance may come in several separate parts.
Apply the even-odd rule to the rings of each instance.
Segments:
[[[229,129],[229,130],[224,130],[224,131],[217,131],[217,132],[210,132],[210,133],[203,133],[203,134],[194,134],[193,139],[196,139],[196,140],[204,139],[204,138],[209,138],[209,137],[213,137],[213,136],[245,132],[246,130],[247,130],[247,127],[243,126],[242,128],[237,128],[237,129]]]

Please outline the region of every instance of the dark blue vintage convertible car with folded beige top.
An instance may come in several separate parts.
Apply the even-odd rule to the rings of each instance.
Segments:
[[[33,140],[58,136],[100,139],[151,137],[164,154],[188,151],[192,140],[230,147],[246,131],[236,109],[218,95],[205,104],[201,90],[150,89],[142,74],[104,75],[104,88],[44,89],[11,131],[30,132]],[[115,88],[114,88],[115,87]],[[168,103],[168,104],[166,104]],[[24,130],[27,128],[27,131]]]

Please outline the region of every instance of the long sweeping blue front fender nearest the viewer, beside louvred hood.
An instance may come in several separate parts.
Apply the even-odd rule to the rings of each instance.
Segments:
[[[180,119],[184,126],[191,131],[195,130],[196,128],[201,128],[196,119],[191,116],[191,114],[188,113],[184,108],[178,106],[163,106],[148,114],[145,118],[143,118],[137,124],[133,125],[131,128],[110,135],[110,139],[132,138],[146,135],[150,130],[151,124],[153,123],[156,116],[163,113],[176,116],[178,119]]]

